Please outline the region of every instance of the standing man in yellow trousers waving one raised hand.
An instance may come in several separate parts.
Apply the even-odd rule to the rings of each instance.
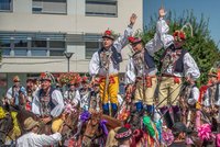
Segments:
[[[135,23],[136,15],[130,18],[130,25],[124,34],[114,41],[111,31],[107,30],[102,35],[102,48],[96,52],[89,64],[89,72],[91,77],[100,78],[100,95],[102,99],[102,108],[105,114],[116,115],[118,110],[118,90],[119,90],[119,65],[122,61],[121,49],[129,43],[128,37],[132,35],[132,27]],[[109,100],[111,105],[109,105]]]

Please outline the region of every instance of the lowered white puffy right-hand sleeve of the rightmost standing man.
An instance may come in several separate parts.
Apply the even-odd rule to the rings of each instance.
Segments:
[[[200,77],[199,68],[189,53],[184,55],[184,72],[185,77],[190,77],[194,80]]]

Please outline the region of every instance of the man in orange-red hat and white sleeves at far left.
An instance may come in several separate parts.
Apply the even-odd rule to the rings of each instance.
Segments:
[[[10,104],[19,106],[21,103],[20,98],[26,97],[26,90],[21,86],[19,76],[13,77],[14,84],[7,91],[7,99]]]

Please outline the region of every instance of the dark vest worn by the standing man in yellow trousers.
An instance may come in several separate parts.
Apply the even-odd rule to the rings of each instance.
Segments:
[[[98,50],[98,55],[99,55],[99,59],[100,59],[100,54],[101,52],[103,52],[103,47],[101,49]],[[112,45],[111,46],[111,52],[112,52],[112,55],[111,55],[111,59],[113,61],[113,64],[118,65],[122,61],[122,56],[121,56],[121,53],[118,53],[117,52],[117,48]],[[101,65],[101,61],[100,61],[100,65]]]

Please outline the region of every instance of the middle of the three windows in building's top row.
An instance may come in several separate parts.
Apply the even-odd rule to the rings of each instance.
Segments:
[[[41,14],[41,13],[66,14],[67,2],[66,0],[33,0],[32,12],[35,14]]]

